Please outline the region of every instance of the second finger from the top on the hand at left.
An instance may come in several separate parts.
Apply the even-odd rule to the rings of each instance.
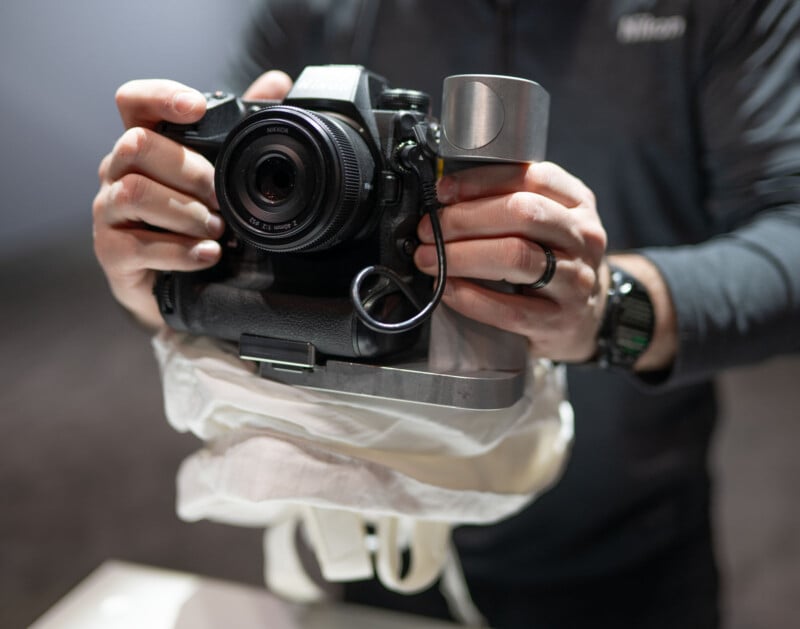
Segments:
[[[100,164],[101,182],[113,182],[132,173],[217,207],[211,163],[155,131],[142,127],[127,130]]]

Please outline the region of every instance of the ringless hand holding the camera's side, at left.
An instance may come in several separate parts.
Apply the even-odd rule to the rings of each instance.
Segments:
[[[291,84],[283,72],[267,72],[244,97],[282,99]],[[213,165],[153,131],[162,120],[196,122],[206,102],[200,92],[160,79],[125,83],[116,101],[126,131],[100,163],[94,250],[114,297],[156,329],[164,325],[152,293],[156,271],[198,271],[222,255]]]

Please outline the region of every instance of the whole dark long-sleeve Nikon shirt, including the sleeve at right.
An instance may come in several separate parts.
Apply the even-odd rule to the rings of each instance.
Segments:
[[[560,483],[457,534],[471,579],[552,584],[646,562],[708,525],[720,370],[800,349],[800,2],[265,3],[245,73],[363,63],[438,98],[457,73],[551,95],[548,158],[595,192],[611,251],[666,280],[679,348],[657,383],[570,371]]]

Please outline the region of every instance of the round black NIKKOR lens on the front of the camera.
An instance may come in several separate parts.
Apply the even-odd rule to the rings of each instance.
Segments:
[[[223,144],[217,196],[226,222],[266,251],[330,248],[367,220],[375,162],[347,122],[288,105],[245,118]]]

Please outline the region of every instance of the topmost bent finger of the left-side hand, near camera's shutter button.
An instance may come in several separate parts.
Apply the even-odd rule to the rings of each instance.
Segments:
[[[196,122],[206,111],[200,92],[166,79],[129,81],[117,90],[116,101],[126,129],[152,128],[162,120]]]

